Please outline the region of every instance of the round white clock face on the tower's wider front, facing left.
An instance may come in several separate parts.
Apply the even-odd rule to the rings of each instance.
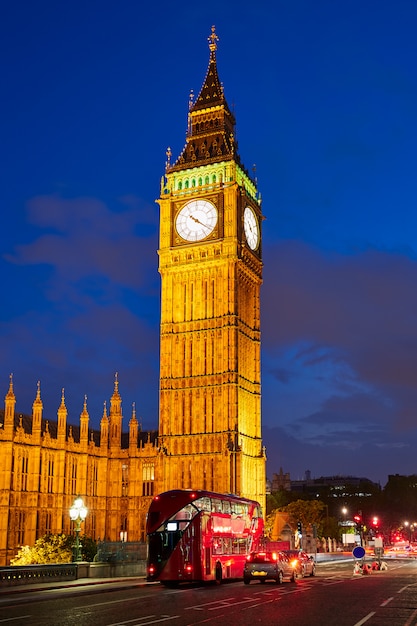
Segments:
[[[200,241],[208,237],[217,224],[217,209],[208,200],[191,200],[177,215],[177,233],[186,241]]]

